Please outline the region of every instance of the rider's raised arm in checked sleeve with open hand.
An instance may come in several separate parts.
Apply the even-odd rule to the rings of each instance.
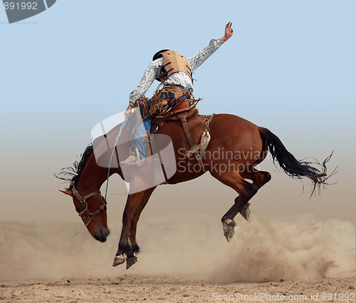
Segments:
[[[233,34],[231,29],[232,23],[228,22],[225,26],[225,34],[220,39],[212,39],[208,46],[201,48],[200,51],[191,58],[188,59],[189,66],[192,71],[196,70],[201,63],[206,61],[225,41],[229,40]]]

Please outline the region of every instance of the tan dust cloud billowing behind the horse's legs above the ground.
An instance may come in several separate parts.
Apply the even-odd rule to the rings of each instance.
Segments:
[[[207,282],[310,280],[355,275],[355,227],[313,217],[288,221],[236,217],[226,242],[221,222],[202,213],[143,217],[137,230],[142,252],[129,270],[112,267],[121,225],[108,241],[95,241],[75,222],[0,222],[0,280],[181,275]]]

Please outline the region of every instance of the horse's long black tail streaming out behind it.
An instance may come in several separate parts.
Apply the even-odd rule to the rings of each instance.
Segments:
[[[336,169],[330,176],[326,175],[326,163],[330,160],[333,153],[331,153],[328,158],[324,160],[323,163],[319,163],[317,160],[315,162],[309,161],[300,161],[295,159],[295,157],[288,152],[286,147],[283,145],[281,140],[268,130],[267,128],[258,128],[262,140],[266,140],[268,145],[268,150],[272,155],[273,162],[277,160],[278,165],[281,166],[282,170],[289,175],[291,178],[301,179],[302,177],[306,177],[311,180],[313,184],[312,195],[315,192],[315,189],[318,188],[318,192],[320,194],[321,185],[328,185],[326,180],[330,178],[332,175],[336,173]],[[320,170],[313,167],[312,165],[319,165]]]

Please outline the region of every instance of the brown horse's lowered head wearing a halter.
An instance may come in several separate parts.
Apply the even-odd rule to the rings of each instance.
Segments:
[[[108,229],[108,220],[106,216],[106,200],[100,193],[100,190],[89,192],[86,195],[81,195],[74,185],[66,190],[61,190],[66,195],[73,197],[75,210],[82,218],[85,227],[88,228],[90,235],[95,240],[105,242],[106,237],[110,234]],[[84,190],[83,190],[84,192]]]

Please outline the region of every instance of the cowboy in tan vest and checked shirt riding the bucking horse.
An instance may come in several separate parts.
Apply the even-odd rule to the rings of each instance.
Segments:
[[[137,101],[140,101],[140,98],[145,96],[146,91],[150,88],[153,81],[158,80],[164,84],[164,88],[162,89],[163,98],[167,98],[168,102],[173,101],[174,98],[179,98],[184,96],[186,92],[193,91],[193,80],[192,80],[192,72],[196,70],[201,63],[206,61],[209,56],[211,56],[225,41],[227,41],[233,34],[233,30],[231,29],[231,22],[228,22],[225,26],[225,35],[219,39],[212,39],[209,43],[209,46],[202,48],[195,56],[192,58],[184,58],[174,51],[169,51],[167,49],[163,49],[162,51],[158,51],[155,53],[155,56],[152,58],[152,62],[147,67],[141,82],[135,89],[130,93],[130,103],[127,106],[125,111],[125,116],[130,115],[132,110],[132,106],[140,105],[137,104]],[[170,57],[169,57],[170,56]],[[172,58],[172,56],[174,58]],[[164,58],[167,58],[164,60]],[[171,60],[171,58],[173,60]],[[169,68],[169,63],[171,61],[175,61],[172,65],[172,71],[167,71],[163,66],[163,62],[167,62]],[[161,96],[162,98],[162,96]],[[147,106],[150,106],[151,101],[147,101]],[[142,109],[141,109],[142,111]],[[151,130],[151,120],[152,115],[143,120],[145,125],[145,130],[147,133],[150,133]],[[120,165],[144,165],[145,157],[146,157],[146,143],[142,142],[142,135],[145,135],[145,130],[142,128],[137,128],[136,130],[136,138],[135,143],[137,145],[137,150],[140,154],[140,159],[132,153],[129,158],[125,161],[120,162]]]

